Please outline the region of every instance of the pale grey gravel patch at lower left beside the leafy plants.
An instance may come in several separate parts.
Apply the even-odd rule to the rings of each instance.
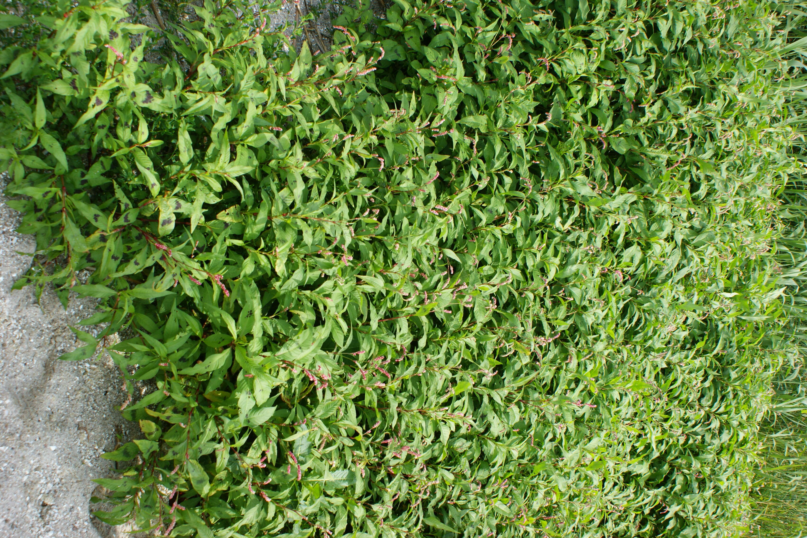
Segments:
[[[31,236],[14,230],[19,215],[0,197],[0,536],[115,536],[91,518],[93,478],[109,476],[99,456],[131,436],[115,406],[125,394],[106,357],[66,362],[76,345],[69,325],[92,309],[74,299],[67,311],[46,290],[10,287],[31,263]]]

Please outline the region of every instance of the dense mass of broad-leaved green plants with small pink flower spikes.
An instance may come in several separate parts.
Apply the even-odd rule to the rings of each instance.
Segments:
[[[799,169],[781,6],[395,0],[312,57],[208,0],[152,63],[117,0],[57,4],[0,54],[0,159],[19,286],[100,299],[65,358],[154,384],[102,518],[747,528]]]

